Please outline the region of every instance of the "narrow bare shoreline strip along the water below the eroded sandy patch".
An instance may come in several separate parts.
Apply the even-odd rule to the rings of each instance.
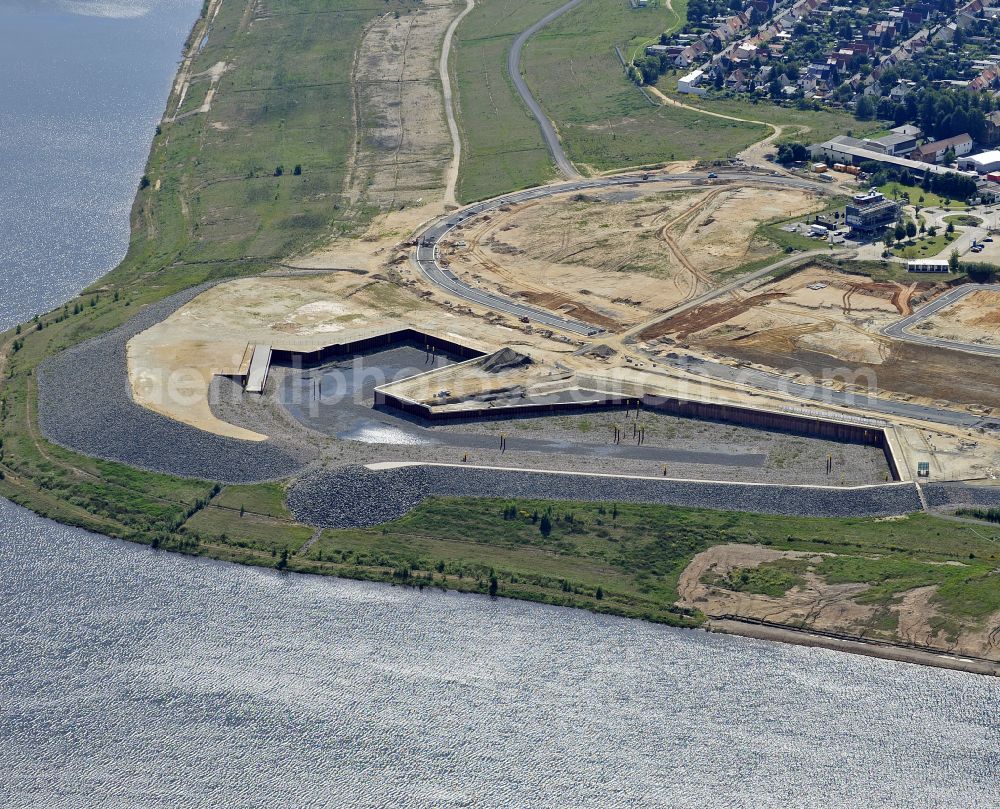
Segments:
[[[747,618],[726,616],[709,618],[702,628],[706,632],[720,635],[739,635],[755,640],[788,643],[815,649],[828,649],[846,654],[864,655],[897,663],[912,663],[919,666],[949,669],[984,677],[1000,677],[1000,661],[986,658],[950,655],[933,649],[904,646],[890,641],[854,640],[846,636],[822,633],[809,629],[795,629],[779,624],[767,624]]]

